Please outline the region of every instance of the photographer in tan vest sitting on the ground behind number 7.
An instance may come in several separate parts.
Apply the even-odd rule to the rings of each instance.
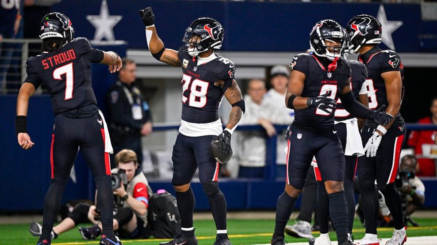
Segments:
[[[114,231],[118,231],[121,238],[143,238],[146,236],[147,207],[149,197],[153,194],[146,177],[142,172],[136,174],[138,168],[137,155],[132,150],[123,149],[115,156],[116,168],[111,172],[116,174],[119,170],[126,171],[128,184],[114,190],[117,198],[117,213],[114,215]],[[97,203],[98,205],[98,203]],[[53,227],[51,239],[57,238],[61,233],[69,231],[79,223],[91,222],[95,226],[79,228],[82,237],[86,240],[96,239],[102,233],[102,224],[99,219],[98,207],[89,204],[78,204],[57,226]],[[30,224],[30,233],[34,236],[41,235],[41,225],[37,222]]]

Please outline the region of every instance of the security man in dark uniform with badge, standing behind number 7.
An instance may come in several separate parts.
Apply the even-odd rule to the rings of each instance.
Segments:
[[[123,58],[123,67],[118,72],[118,81],[107,93],[108,108],[111,115],[110,136],[114,152],[131,149],[138,156],[138,171],[143,159],[141,136],[152,132],[149,106],[135,86],[135,61]],[[114,168],[111,161],[111,168]]]

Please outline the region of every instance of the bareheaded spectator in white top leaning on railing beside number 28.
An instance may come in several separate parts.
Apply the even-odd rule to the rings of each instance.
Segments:
[[[263,80],[249,81],[247,94],[244,95],[246,112],[240,125],[261,125],[265,131],[241,131],[238,136],[239,173],[240,178],[263,178],[266,165],[266,136],[276,135],[274,123],[289,123],[289,115],[284,113],[280,105],[272,99],[264,98],[266,85]],[[285,104],[282,101],[282,104]],[[283,138],[283,137],[281,137]]]

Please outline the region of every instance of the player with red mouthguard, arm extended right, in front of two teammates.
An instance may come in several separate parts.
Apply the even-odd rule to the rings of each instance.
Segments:
[[[289,133],[285,191],[276,204],[276,224],[271,244],[282,245],[284,228],[302,192],[306,173],[316,156],[329,196],[329,211],[338,244],[348,241],[348,214],[343,180],[345,157],[334,128],[335,101],[340,98],[348,112],[386,124],[392,118],[357,102],[351,91],[351,68],[340,58],[347,37],[334,20],[319,21],[310,32],[313,55],[299,54],[290,62],[287,107],[295,110]]]

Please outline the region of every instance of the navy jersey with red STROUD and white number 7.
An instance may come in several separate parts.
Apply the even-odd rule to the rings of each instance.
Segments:
[[[26,60],[27,78],[37,89],[44,83],[51,96],[54,115],[85,118],[95,114],[97,100],[91,87],[91,65],[103,60],[103,51],[77,38],[54,52]]]

